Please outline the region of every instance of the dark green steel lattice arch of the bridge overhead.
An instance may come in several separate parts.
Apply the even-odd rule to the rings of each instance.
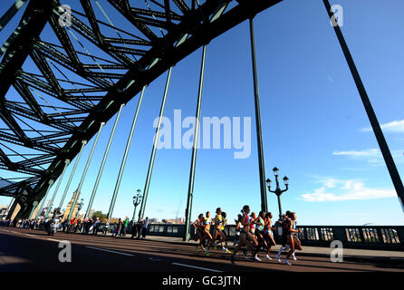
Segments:
[[[122,103],[190,53],[282,0],[148,2],[133,7],[128,0],[108,0],[136,34],[114,26],[109,18],[108,23],[102,21],[89,0],[80,1],[83,13],[72,7],[72,25],[64,27],[58,0],[28,2],[21,25],[29,25],[0,63],[0,117],[8,127],[0,128],[0,140],[19,145],[17,152],[0,146],[0,169],[29,175],[0,187],[0,195],[22,200],[25,213],[34,200],[43,198],[49,180],[60,176],[64,160],[73,160],[82,140],[91,140],[99,123],[109,121]],[[43,39],[45,26],[53,42]],[[106,33],[107,28],[119,37]],[[23,68],[28,58],[35,73]],[[72,75],[82,81],[72,82]],[[23,102],[8,97],[10,88]],[[36,130],[28,121],[47,128]],[[36,156],[28,158],[23,150],[18,152],[20,147]],[[29,194],[20,198],[24,189]]]

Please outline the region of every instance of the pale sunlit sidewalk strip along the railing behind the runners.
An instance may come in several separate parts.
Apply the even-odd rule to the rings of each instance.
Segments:
[[[180,237],[159,237],[159,236],[147,236],[147,240],[176,243],[183,245],[197,245],[197,242],[188,241],[184,242]],[[233,242],[229,242],[228,246],[233,247]],[[279,250],[279,245],[272,248],[272,252]],[[303,246],[303,251],[298,251],[298,255],[302,256],[322,256],[330,257],[333,248],[331,247],[306,247]],[[345,260],[367,260],[367,261],[385,261],[385,262],[399,262],[404,266],[404,252],[400,251],[379,251],[379,250],[366,250],[355,248],[344,248],[343,258]]]

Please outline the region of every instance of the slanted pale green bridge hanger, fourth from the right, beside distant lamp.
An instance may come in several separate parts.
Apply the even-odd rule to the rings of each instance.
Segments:
[[[168,87],[169,87],[169,82],[171,80],[172,68],[173,67],[171,66],[169,68],[169,70],[168,70],[166,88],[164,89],[163,101],[161,102],[161,108],[160,108],[160,114],[159,114],[159,124],[158,124],[157,129],[156,129],[156,134],[154,135],[153,150],[151,151],[148,175],[146,177],[145,188],[143,190],[143,198],[141,199],[141,205],[140,205],[140,210],[139,210],[139,220],[140,220],[140,218],[143,218],[144,211],[145,211],[145,208],[146,208],[146,201],[148,199],[151,173],[153,172],[154,158],[156,156],[157,145],[159,144],[159,133],[160,133],[161,121],[163,119],[164,109],[166,108]]]

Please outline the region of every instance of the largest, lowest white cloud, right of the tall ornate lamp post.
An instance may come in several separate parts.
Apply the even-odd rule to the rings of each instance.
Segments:
[[[339,186],[337,187],[337,184]],[[359,180],[323,180],[323,186],[302,195],[303,201],[327,202],[397,197],[394,189],[370,189]]]

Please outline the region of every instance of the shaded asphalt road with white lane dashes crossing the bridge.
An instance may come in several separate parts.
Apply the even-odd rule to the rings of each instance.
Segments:
[[[71,243],[72,262],[60,262],[61,251],[65,251],[59,247],[60,241]],[[291,261],[293,266],[286,266],[276,260],[246,261],[240,253],[236,265],[232,265],[229,254],[212,250],[207,257],[190,245],[61,232],[49,237],[43,231],[0,227],[0,272],[404,272],[404,265],[388,261],[332,263],[326,257],[296,256],[298,260]]]

